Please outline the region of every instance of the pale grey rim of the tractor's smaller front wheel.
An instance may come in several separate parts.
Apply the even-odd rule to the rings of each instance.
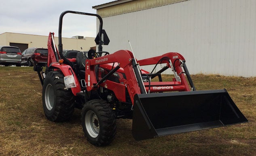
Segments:
[[[85,114],[85,127],[91,137],[97,137],[99,134],[99,120],[97,115],[89,110]]]

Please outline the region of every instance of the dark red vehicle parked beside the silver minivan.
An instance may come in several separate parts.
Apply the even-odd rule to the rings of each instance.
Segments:
[[[24,50],[21,54],[21,65],[32,67],[33,64],[31,60],[34,61],[35,64],[46,64],[48,56],[48,49],[44,48],[28,48]]]

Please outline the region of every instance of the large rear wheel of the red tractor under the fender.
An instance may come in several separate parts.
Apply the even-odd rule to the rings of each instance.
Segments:
[[[42,103],[44,114],[51,121],[66,121],[74,112],[74,95],[71,89],[64,89],[61,71],[51,71],[44,79]]]

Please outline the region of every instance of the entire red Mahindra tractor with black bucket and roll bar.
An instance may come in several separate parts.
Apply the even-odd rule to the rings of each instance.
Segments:
[[[61,31],[66,13],[99,19],[95,39],[98,52],[78,52],[75,58],[63,56]],[[66,121],[74,108],[80,108],[83,131],[95,146],[111,143],[116,119],[121,118],[133,119],[136,140],[248,122],[226,89],[196,91],[179,53],[136,60],[129,50],[112,54],[102,51],[102,45],[109,42],[102,25],[99,15],[65,11],[59,18],[59,50],[54,33],[49,33],[45,71],[34,64],[42,83],[47,119]],[[155,71],[158,64],[164,67]],[[146,65],[154,65],[152,72],[140,68]],[[172,81],[163,81],[161,73],[166,70],[174,75]]]

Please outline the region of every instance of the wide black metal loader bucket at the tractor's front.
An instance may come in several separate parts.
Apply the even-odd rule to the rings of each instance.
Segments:
[[[134,139],[186,133],[248,122],[226,89],[136,94]]]

